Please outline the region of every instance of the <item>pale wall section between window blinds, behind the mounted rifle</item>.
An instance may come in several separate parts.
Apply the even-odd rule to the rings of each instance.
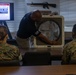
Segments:
[[[59,12],[59,9],[60,9],[60,7],[59,7],[59,5],[60,5],[59,1],[60,0],[25,0],[25,3],[27,5],[27,3],[31,3],[31,2],[33,2],[33,3],[48,2],[49,4],[56,4],[57,5],[56,8],[53,8],[53,7],[49,6],[49,9],[47,9],[47,8],[44,9],[43,6],[39,6],[39,5],[27,5],[27,12],[35,10],[35,9],[49,10],[49,11],[57,11],[57,12]]]

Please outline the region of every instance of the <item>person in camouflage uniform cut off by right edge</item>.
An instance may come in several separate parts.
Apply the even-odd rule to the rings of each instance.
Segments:
[[[63,48],[62,64],[76,64],[76,24],[72,29],[73,40]]]

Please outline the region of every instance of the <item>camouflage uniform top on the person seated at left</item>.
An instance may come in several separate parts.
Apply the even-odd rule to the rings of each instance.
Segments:
[[[7,43],[0,44],[0,61],[3,60],[20,60],[19,49],[16,46]]]

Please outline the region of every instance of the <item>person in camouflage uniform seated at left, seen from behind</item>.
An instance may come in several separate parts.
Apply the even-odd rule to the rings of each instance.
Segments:
[[[14,45],[7,44],[7,38],[7,28],[0,25],[0,61],[21,60],[19,49]]]

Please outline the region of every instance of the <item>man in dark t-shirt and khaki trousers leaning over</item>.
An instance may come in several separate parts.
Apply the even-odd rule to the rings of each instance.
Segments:
[[[42,18],[41,12],[39,10],[35,10],[33,12],[29,12],[24,15],[22,18],[19,29],[17,32],[17,43],[22,48],[29,48],[29,37],[34,35],[48,44],[56,44],[56,42],[50,41],[47,37],[45,37],[35,26],[35,22],[40,21]]]

